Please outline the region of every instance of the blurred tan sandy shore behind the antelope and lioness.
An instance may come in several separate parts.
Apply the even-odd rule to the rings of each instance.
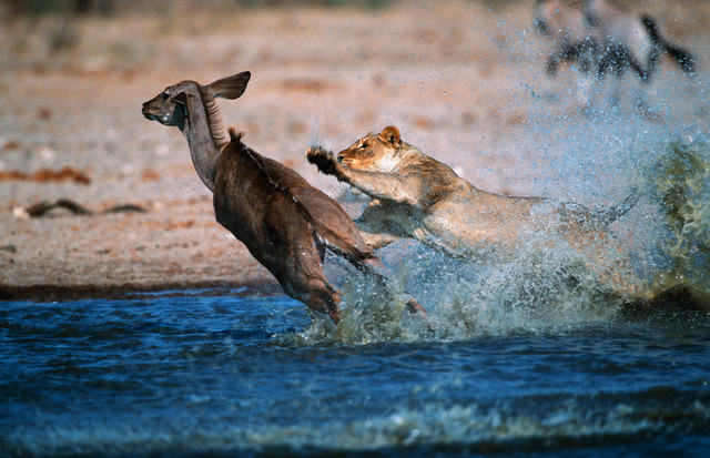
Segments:
[[[709,49],[709,4],[646,7],[676,40]],[[55,43],[61,33],[71,45]],[[580,116],[564,102],[571,77],[541,72],[546,45],[534,34],[527,1],[498,9],[403,1],[382,10],[232,7],[199,14],[174,7],[20,19],[0,35],[9,50],[0,55],[0,299],[196,287],[280,292],[214,221],[179,131],[141,116],[143,101],[183,79],[209,83],[251,70],[244,96],[221,104],[226,124],[334,196],[343,187],[305,162],[308,143],[338,150],[395,124],[406,141],[483,189],[577,197],[550,176],[556,153],[520,141],[539,94],[554,103],[535,121],[538,131],[540,123]],[[702,52],[699,60],[708,67]],[[658,84],[687,82],[670,75]],[[682,91],[692,98],[692,88]],[[693,115],[708,125],[708,110]],[[85,180],[37,173],[67,166]],[[608,199],[625,192],[619,185]],[[95,213],[22,212],[60,197]],[[595,204],[584,201],[594,197],[580,199]],[[145,212],[101,213],[126,203]]]

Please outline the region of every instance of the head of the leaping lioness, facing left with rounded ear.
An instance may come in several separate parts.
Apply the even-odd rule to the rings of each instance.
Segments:
[[[394,125],[389,125],[382,133],[369,133],[348,149],[341,151],[337,160],[343,165],[357,170],[392,172],[403,161],[399,154],[402,145],[399,131]]]

